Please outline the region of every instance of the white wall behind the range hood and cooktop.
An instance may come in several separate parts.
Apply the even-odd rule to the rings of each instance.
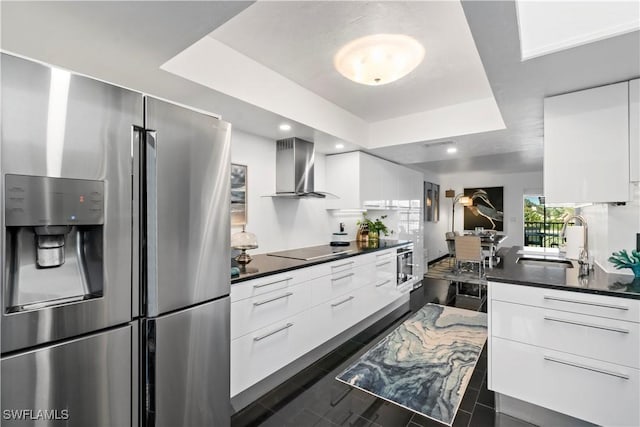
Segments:
[[[324,187],[324,160],[324,155],[316,154],[316,190]],[[321,245],[330,240],[335,230],[323,199],[262,197],[276,191],[275,141],[234,130],[231,162],[247,165],[246,230],[256,234],[259,246],[251,254]],[[232,227],[231,232],[240,229]]]

